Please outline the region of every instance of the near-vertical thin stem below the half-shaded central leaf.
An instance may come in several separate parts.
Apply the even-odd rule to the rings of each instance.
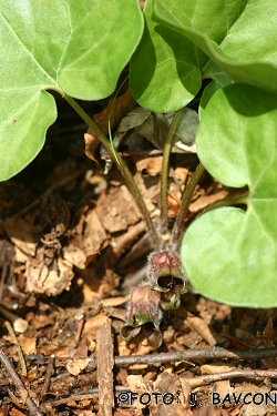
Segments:
[[[172,141],[177,130],[182,110],[175,112],[171,128],[164,144],[163,151],[163,166],[161,176],[161,235],[167,234],[167,177],[168,177],[168,164],[172,150]]]

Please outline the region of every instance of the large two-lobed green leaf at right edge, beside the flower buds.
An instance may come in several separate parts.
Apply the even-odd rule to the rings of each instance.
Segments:
[[[233,305],[277,305],[277,100],[236,83],[208,102],[196,134],[198,156],[219,182],[248,185],[247,211],[220,207],[185,233],[181,257],[203,295]]]

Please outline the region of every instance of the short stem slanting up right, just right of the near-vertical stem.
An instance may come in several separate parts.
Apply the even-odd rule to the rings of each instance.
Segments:
[[[179,247],[181,237],[185,229],[185,219],[188,212],[188,206],[189,206],[195,186],[199,182],[199,179],[203,175],[204,171],[205,171],[205,168],[203,166],[202,163],[199,163],[194,174],[192,175],[192,179],[184,192],[181,206],[179,206],[179,211],[178,211],[178,215],[176,216],[173,231],[172,231],[171,245],[173,250],[177,250]]]

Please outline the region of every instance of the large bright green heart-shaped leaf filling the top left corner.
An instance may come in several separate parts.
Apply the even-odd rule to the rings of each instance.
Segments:
[[[137,0],[0,0],[0,180],[42,149],[57,119],[45,90],[109,95],[142,31]]]

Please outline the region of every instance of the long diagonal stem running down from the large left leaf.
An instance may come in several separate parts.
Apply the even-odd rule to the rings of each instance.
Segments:
[[[133,197],[136,202],[136,205],[137,205],[137,207],[138,207],[138,210],[142,214],[142,219],[146,224],[146,227],[148,230],[152,243],[153,243],[155,250],[158,250],[160,239],[158,239],[157,233],[154,229],[153,222],[151,221],[150,213],[146,209],[146,205],[144,203],[142,194],[141,194],[141,192],[140,192],[130,170],[127,169],[127,166],[125,165],[125,163],[121,159],[120,154],[115,151],[115,149],[113,149],[113,151],[112,151],[110,142],[109,142],[107,138],[105,136],[105,134],[94,123],[94,121],[86,114],[86,112],[78,104],[78,102],[66,94],[64,94],[63,98],[75,110],[75,112],[81,116],[81,119],[85,122],[85,124],[88,124],[89,128],[91,128],[94,131],[94,133],[98,135],[99,140],[101,141],[101,143],[105,148],[105,150],[109,152],[109,154],[111,155],[113,161],[116,163],[119,170],[121,171],[121,173],[122,173],[122,175],[123,175],[123,177],[126,182],[129,191],[133,195]]]

